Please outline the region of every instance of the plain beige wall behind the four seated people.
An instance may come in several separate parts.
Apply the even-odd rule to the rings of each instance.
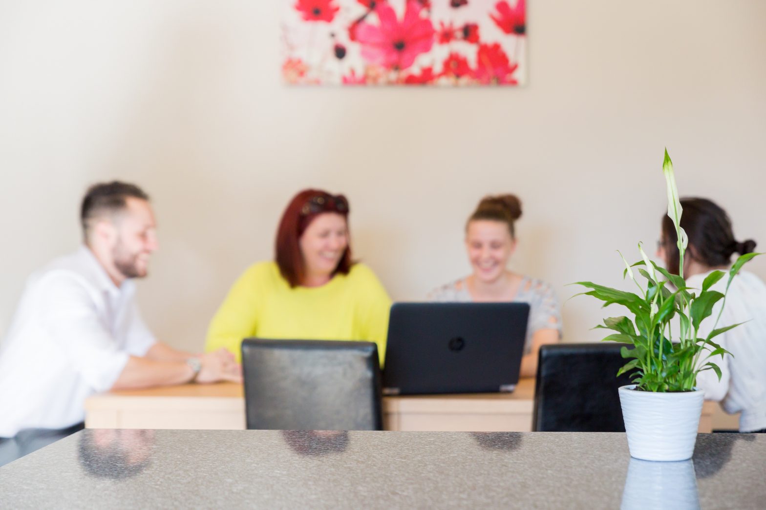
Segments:
[[[621,285],[614,250],[657,238],[666,145],[682,194],[766,247],[763,0],[532,0],[517,90],[283,87],[280,5],[0,0],[0,334],[28,273],[77,247],[83,189],[110,178],[155,199],[139,299],[189,349],[307,186],[349,196],[355,253],[394,299],[466,273],[463,221],[500,191],[525,203],[513,269],[562,300],[572,281]],[[597,302],[563,310],[568,341],[599,337]]]

